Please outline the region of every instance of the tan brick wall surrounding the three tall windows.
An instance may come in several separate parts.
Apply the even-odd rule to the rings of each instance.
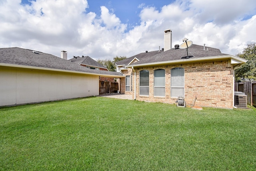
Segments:
[[[184,93],[187,104],[192,104],[193,100],[197,98],[195,105],[233,108],[233,67],[228,63],[228,60],[134,68],[136,70],[136,99],[175,103],[177,98],[172,98],[170,93],[170,74],[171,69],[176,67],[184,68]],[[165,70],[165,97],[154,97],[154,70],[157,69]],[[149,96],[139,95],[140,70],[149,70]],[[121,84],[125,84],[125,80],[121,80]]]

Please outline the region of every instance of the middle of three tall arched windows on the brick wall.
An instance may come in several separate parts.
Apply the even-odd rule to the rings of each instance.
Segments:
[[[154,71],[154,96],[165,97],[165,70]]]

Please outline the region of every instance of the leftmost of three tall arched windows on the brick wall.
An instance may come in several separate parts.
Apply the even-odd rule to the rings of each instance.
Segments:
[[[140,95],[149,95],[149,71],[140,71]]]

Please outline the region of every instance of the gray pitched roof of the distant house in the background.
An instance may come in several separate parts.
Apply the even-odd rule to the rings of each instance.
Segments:
[[[76,58],[72,58],[68,61],[74,62],[76,64],[84,64],[84,65],[88,65],[88,66],[108,69],[105,66],[103,66],[102,64],[100,64],[100,63],[96,62],[95,60],[93,60],[92,58],[90,58],[90,56],[84,56],[84,57],[76,56]]]

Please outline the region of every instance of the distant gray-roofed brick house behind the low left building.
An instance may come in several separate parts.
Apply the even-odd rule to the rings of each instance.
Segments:
[[[89,56],[73,56],[72,59],[69,60],[70,62],[74,62],[76,64],[79,64],[80,66],[85,66],[87,68],[90,68],[92,70],[104,70],[108,71],[108,68],[104,67],[102,64],[96,62]],[[100,82],[114,82],[114,78],[107,78],[107,77],[100,77]]]

